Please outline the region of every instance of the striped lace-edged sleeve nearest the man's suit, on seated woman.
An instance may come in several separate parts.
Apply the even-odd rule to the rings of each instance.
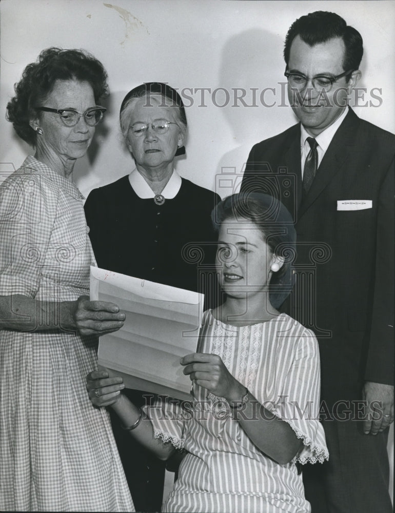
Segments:
[[[303,441],[303,448],[292,460],[293,463],[323,463],[328,459],[324,428],[319,421],[319,348],[314,333],[308,329],[303,331],[297,342],[280,400],[272,412],[287,422]]]

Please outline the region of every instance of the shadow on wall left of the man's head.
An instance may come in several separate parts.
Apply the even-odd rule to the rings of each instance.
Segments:
[[[218,87],[225,88],[229,98],[218,95],[218,103],[229,100],[219,110],[236,147],[217,167],[215,189],[222,198],[239,190],[251,146],[284,130],[292,115],[286,100],[283,44],[277,34],[251,29],[230,37],[223,48]]]

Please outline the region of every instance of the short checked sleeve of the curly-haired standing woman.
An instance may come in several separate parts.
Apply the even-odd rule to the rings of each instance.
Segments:
[[[26,169],[0,187],[0,295],[35,298],[58,198],[43,178]]]

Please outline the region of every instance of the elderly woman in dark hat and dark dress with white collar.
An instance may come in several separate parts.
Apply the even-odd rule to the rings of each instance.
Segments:
[[[216,302],[216,277],[200,273],[193,258],[214,266],[216,236],[212,191],[182,178],[175,156],[185,153],[187,119],[180,95],[153,82],[132,89],[120,112],[121,130],[135,166],[120,180],[93,190],[85,203],[89,236],[100,267],[153,282],[204,292]],[[192,250],[192,245],[195,251]],[[129,392],[143,404],[142,392]],[[161,508],[163,463],[113,420],[126,477],[137,510]],[[149,467],[149,468],[148,468]]]

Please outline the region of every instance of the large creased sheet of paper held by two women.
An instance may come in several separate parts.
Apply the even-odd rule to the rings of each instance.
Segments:
[[[99,364],[128,388],[190,399],[180,358],[196,350],[204,295],[91,267],[90,299],[126,314],[120,330],[100,338]]]

